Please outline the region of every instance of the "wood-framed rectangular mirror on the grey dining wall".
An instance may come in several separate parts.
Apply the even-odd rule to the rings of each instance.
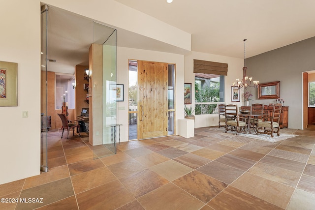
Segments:
[[[258,99],[280,98],[280,81],[258,85]]]

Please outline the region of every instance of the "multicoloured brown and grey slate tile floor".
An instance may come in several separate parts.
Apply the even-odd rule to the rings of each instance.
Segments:
[[[49,172],[0,185],[1,210],[314,210],[315,131],[266,141],[196,128],[195,137],[120,143],[95,159],[78,136],[49,132]],[[98,148],[97,148],[98,149]],[[101,150],[101,149],[99,149]]]

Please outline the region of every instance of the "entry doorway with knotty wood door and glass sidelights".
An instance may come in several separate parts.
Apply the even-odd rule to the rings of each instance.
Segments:
[[[174,135],[175,64],[128,63],[129,140]]]

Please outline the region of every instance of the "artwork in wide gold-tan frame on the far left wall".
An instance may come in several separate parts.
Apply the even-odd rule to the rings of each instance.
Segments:
[[[0,106],[17,106],[17,63],[0,61]]]

